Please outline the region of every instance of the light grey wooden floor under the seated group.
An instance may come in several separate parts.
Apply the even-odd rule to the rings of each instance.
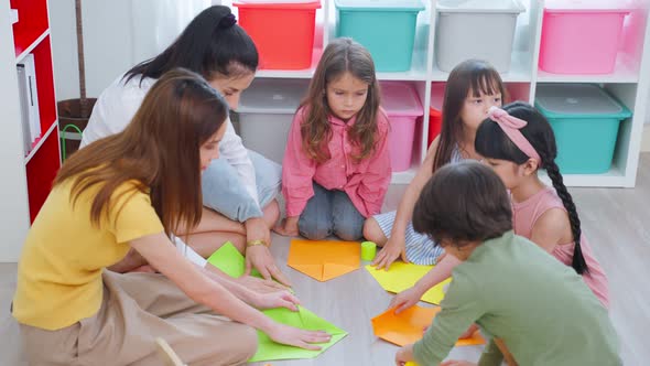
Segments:
[[[393,209],[404,186],[391,186],[386,209]],[[625,365],[648,365],[650,329],[650,154],[642,154],[633,190],[572,189],[583,228],[609,277],[610,315],[621,341]],[[397,346],[372,335],[370,317],[381,313],[390,294],[364,269],[325,283],[288,268],[289,239],[275,236],[273,254],[294,283],[303,304],[349,332],[315,359],[272,362],[294,365],[393,365]],[[0,365],[24,365],[18,325],[9,314],[15,265],[0,265]],[[540,345],[542,346],[542,345]],[[455,348],[451,357],[477,359],[479,346]],[[266,363],[264,363],[266,364]],[[263,364],[259,364],[263,365]]]

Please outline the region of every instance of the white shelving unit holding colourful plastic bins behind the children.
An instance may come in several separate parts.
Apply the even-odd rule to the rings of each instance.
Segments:
[[[501,74],[503,82],[516,99],[534,103],[535,88],[540,83],[595,83],[621,100],[632,112],[632,117],[620,125],[617,148],[611,169],[604,174],[566,174],[565,183],[570,186],[631,187],[635,185],[638,159],[641,146],[643,121],[648,112],[646,101],[650,90],[650,28],[648,20],[650,0],[636,0],[638,9],[627,18],[635,26],[626,28],[626,49],[619,52],[616,69],[608,75],[557,75],[538,68],[542,17],[544,0],[520,0],[527,10],[518,18],[512,50],[512,62],[508,73]],[[403,73],[378,73],[380,80],[403,80],[412,83],[422,101],[424,117],[416,127],[420,138],[414,143],[411,169],[396,172],[392,183],[409,183],[424,159],[427,148],[429,110],[433,83],[445,82],[448,73],[442,72],[435,64],[435,4],[436,0],[423,1],[425,10],[418,15],[413,62],[411,69]],[[230,6],[231,1],[221,1]],[[234,8],[235,11],[237,8]],[[303,78],[305,83],[312,77],[317,56],[323,45],[335,36],[334,0],[322,0],[322,9],[316,12],[316,32],[314,42],[314,62],[304,71],[259,71],[262,78]],[[630,41],[631,40],[631,41]],[[252,86],[254,87],[254,85]],[[246,92],[242,96],[246,98]],[[246,142],[246,141],[245,141]]]

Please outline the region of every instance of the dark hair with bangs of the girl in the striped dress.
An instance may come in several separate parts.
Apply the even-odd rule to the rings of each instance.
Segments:
[[[443,122],[433,160],[434,172],[451,161],[452,151],[463,138],[465,125],[461,119],[461,111],[469,92],[474,97],[479,97],[480,93],[487,95],[500,93],[503,104],[508,99],[501,76],[489,63],[481,60],[467,60],[454,67],[445,87]]]

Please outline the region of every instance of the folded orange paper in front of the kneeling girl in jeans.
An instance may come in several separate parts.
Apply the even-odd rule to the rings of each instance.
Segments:
[[[361,247],[356,241],[291,240],[286,265],[318,281],[357,270]]]

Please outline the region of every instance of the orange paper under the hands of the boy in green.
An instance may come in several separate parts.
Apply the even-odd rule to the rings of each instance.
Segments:
[[[396,314],[394,309],[389,309],[383,314],[372,317],[372,330],[378,337],[398,346],[404,346],[422,338],[424,329],[431,325],[440,311],[440,306],[422,308],[415,305]],[[457,347],[477,344],[485,344],[485,340],[478,331],[469,338],[456,342]]]

